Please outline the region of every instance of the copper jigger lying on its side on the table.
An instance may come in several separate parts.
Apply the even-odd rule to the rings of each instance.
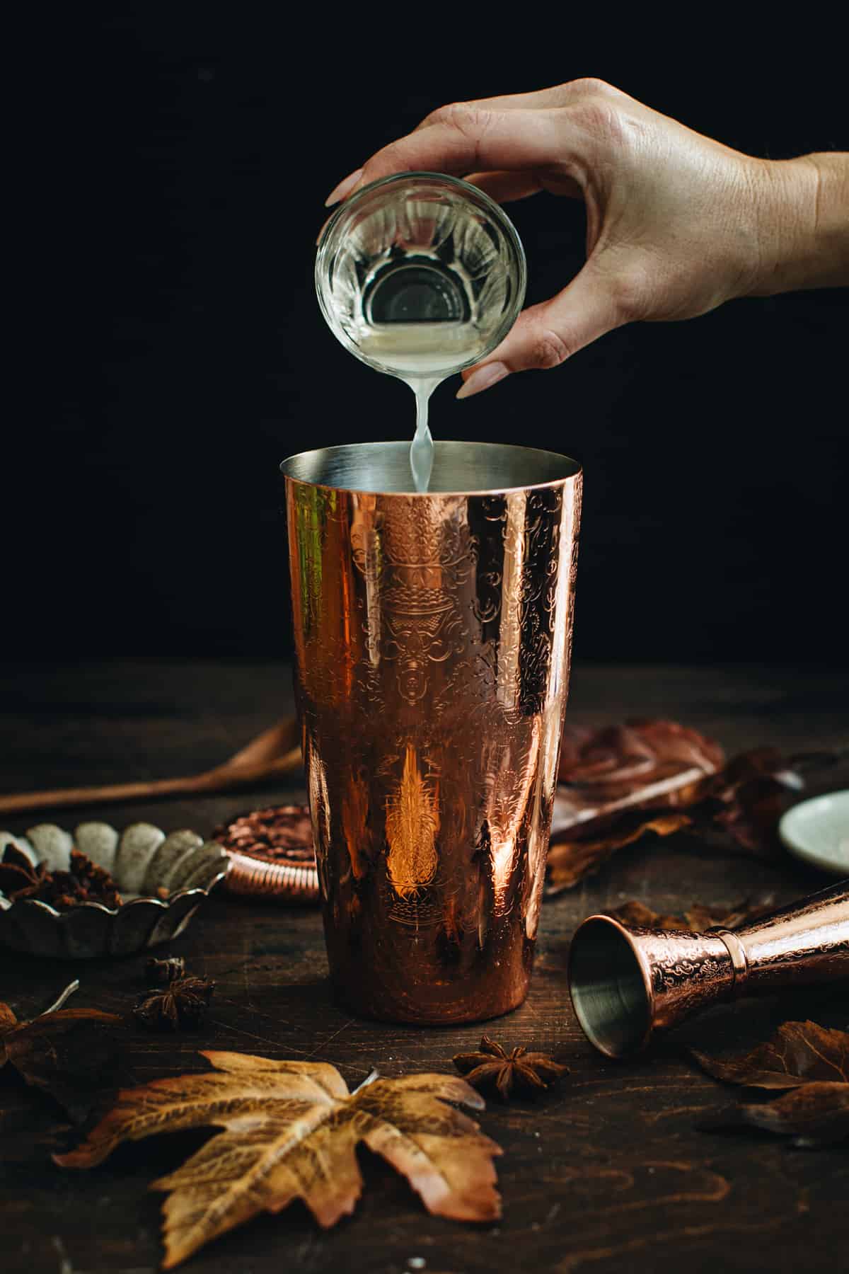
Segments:
[[[640,929],[589,916],[569,950],[569,994],[584,1034],[608,1057],[732,996],[849,977],[849,880],[742,929]]]

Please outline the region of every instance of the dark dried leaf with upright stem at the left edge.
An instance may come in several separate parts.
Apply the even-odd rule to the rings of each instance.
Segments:
[[[18,1022],[9,1005],[0,1004],[0,1070],[9,1063],[81,1121],[117,1070],[123,1019],[98,1009],[60,1008],[78,986],[73,982],[32,1022]]]

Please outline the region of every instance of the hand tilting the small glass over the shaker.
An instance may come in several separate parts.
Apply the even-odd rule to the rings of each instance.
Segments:
[[[556,367],[634,320],[692,318],[732,297],[810,285],[788,262],[816,218],[815,158],[756,159],[610,84],[573,80],[442,107],[327,203],[414,169],[465,175],[499,201],[541,190],[584,200],[586,265],[463,372],[465,397],[509,372]]]

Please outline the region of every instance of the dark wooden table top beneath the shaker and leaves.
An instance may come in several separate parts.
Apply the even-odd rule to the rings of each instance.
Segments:
[[[18,666],[0,702],[6,791],[206,768],[291,707],[289,669],[224,661],[115,661]],[[732,753],[760,743],[788,750],[848,741],[849,683],[826,670],[584,666],[573,674],[575,721],[670,716],[700,727]],[[845,786],[846,776],[841,776]],[[300,781],[300,780],[298,780]],[[836,784],[835,784],[836,786]],[[220,798],[127,804],[57,814],[75,826],[104,817],[209,832],[227,815],[303,796],[293,786]],[[45,815],[8,818],[20,832]],[[566,995],[565,957],[575,925],[629,898],[680,911],[694,901],[734,903],[769,888],[787,901],[827,880],[789,857],[776,865],[699,852],[671,837],[622,851],[597,877],[544,907],[527,1003],[486,1028],[505,1045],[554,1052],[570,1066],[536,1103],[490,1102],[481,1122],[504,1148],[498,1161],[504,1217],[465,1226],[428,1215],[406,1181],[359,1152],[365,1191],[354,1217],[322,1232],[300,1204],[262,1215],[196,1254],[199,1274],[280,1269],[403,1274],[424,1269],[797,1271],[838,1274],[849,1261],[849,1154],[794,1150],[757,1133],[698,1129],[736,1094],[695,1069],[681,1043],[743,1047],[785,1018],[849,1024],[845,984],[794,999],[717,1009],[666,1046],[615,1064],[584,1041]],[[452,1070],[481,1028],[381,1026],[337,1008],[326,981],[321,921],[313,910],[251,905],[224,896],[172,944],[190,968],[216,982],[206,1024],[172,1036],[134,1036],[136,1082],[202,1070],[204,1047],[339,1066],[350,1087],[373,1065],[386,1075]],[[0,952],[0,1000],[32,1017],[74,976],[73,1001],[123,1012],[144,986],[145,957],[115,962],[24,959]],[[0,1077],[0,1270],[3,1274],[149,1274],[162,1256],[160,1196],[148,1184],[176,1167],[205,1134],[123,1147],[89,1172],[48,1158],[53,1103]],[[424,1264],[421,1264],[424,1263]]]

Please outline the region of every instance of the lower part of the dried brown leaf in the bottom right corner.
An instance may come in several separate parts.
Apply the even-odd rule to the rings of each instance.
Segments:
[[[849,1084],[822,1080],[803,1084],[759,1106],[731,1106],[700,1125],[706,1130],[759,1127],[792,1136],[804,1149],[835,1145],[849,1138]]]

